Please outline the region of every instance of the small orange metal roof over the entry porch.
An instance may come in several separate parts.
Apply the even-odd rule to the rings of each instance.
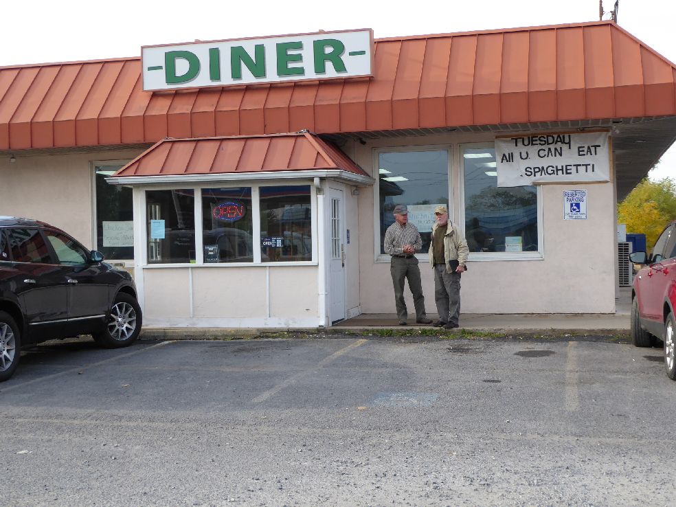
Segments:
[[[341,150],[307,132],[163,139],[117,171],[114,177],[327,169],[369,177]]]

